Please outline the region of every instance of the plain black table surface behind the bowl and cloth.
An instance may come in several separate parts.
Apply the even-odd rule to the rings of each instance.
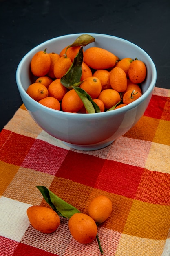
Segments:
[[[22,104],[15,73],[38,44],[66,34],[101,33],[144,49],[156,86],[170,89],[170,0],[0,0],[0,130]]]

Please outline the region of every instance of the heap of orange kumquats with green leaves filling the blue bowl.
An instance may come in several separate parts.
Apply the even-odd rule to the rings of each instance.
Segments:
[[[60,52],[42,49],[35,53],[30,62],[35,80],[26,91],[29,96],[46,107],[81,114],[114,110],[137,100],[147,75],[145,63],[130,56],[119,59],[114,47],[113,52],[86,49],[94,41],[82,35]]]

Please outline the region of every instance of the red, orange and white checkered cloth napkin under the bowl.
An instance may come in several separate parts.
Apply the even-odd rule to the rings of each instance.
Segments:
[[[22,105],[0,133],[0,256],[99,256],[97,240],[76,242],[61,219],[51,234],[33,229],[31,205],[48,206],[46,186],[79,211],[106,195],[111,216],[98,227],[105,256],[170,256],[170,90],[150,104],[124,136],[95,151],[51,137]]]

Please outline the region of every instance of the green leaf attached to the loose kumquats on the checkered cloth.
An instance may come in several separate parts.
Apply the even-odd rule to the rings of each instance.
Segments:
[[[69,218],[71,218],[71,216],[73,214],[80,212],[73,205],[68,204],[67,202],[65,202],[64,200],[59,198],[57,195],[55,195],[53,192],[51,192],[45,186],[36,186],[36,187],[40,190],[43,198],[46,200],[46,202],[49,204],[49,206],[55,212],[57,212],[58,215],[69,219]]]

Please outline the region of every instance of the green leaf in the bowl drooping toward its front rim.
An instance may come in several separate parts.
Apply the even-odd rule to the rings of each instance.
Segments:
[[[77,92],[80,99],[83,101],[84,107],[89,114],[101,112],[99,106],[93,101],[93,99],[85,90],[75,86],[72,86],[72,88],[75,90],[75,92]]]

